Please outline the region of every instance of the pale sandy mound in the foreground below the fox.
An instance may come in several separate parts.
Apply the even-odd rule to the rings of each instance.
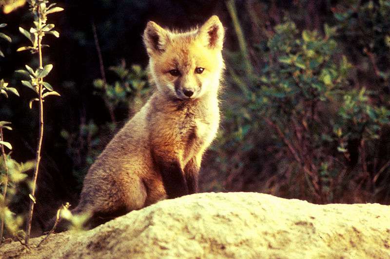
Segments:
[[[32,239],[37,244],[43,237]],[[390,206],[316,205],[260,193],[165,200],[1,258],[390,258]]]

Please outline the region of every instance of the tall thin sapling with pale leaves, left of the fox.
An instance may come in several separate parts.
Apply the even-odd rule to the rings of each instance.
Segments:
[[[55,7],[56,3],[48,4],[47,0],[29,0],[30,11],[34,16],[34,26],[30,28],[29,31],[19,28],[20,33],[27,37],[32,46],[20,47],[17,51],[30,50],[32,54],[38,54],[39,57],[39,67],[35,71],[26,65],[27,70],[19,70],[17,72],[28,76],[30,79],[28,81],[22,80],[21,83],[32,89],[37,93],[37,98],[33,98],[30,100],[29,106],[32,108],[33,102],[37,101],[39,105],[39,140],[38,146],[36,150],[36,162],[35,169],[33,175],[33,182],[31,188],[31,194],[29,195],[30,208],[28,213],[28,219],[26,224],[26,237],[25,237],[25,245],[28,246],[29,238],[30,238],[30,230],[31,230],[31,221],[33,217],[34,204],[36,203],[35,199],[35,189],[37,184],[37,177],[39,171],[39,162],[40,162],[40,150],[42,148],[42,139],[43,139],[43,101],[45,97],[49,95],[58,95],[59,93],[53,90],[53,87],[43,81],[43,78],[46,77],[50,71],[53,69],[52,64],[48,64],[43,66],[42,62],[42,47],[48,47],[48,45],[42,44],[42,39],[45,35],[51,34],[55,37],[59,37],[59,32],[53,30],[55,27],[52,23],[47,23],[47,15],[60,12],[63,10],[61,7]]]

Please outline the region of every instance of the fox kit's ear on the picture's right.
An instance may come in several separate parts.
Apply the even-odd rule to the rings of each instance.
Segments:
[[[212,49],[222,50],[225,30],[216,15],[208,19],[199,29],[198,36]]]

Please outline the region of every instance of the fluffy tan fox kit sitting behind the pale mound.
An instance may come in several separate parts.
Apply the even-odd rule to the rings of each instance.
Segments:
[[[156,89],[91,166],[73,213],[120,215],[196,192],[219,123],[223,37],[217,16],[185,33],[148,22],[143,39]]]

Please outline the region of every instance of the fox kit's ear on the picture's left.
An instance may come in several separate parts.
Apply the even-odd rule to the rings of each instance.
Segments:
[[[143,33],[143,42],[149,55],[161,54],[169,41],[169,32],[154,21],[149,21]]]

